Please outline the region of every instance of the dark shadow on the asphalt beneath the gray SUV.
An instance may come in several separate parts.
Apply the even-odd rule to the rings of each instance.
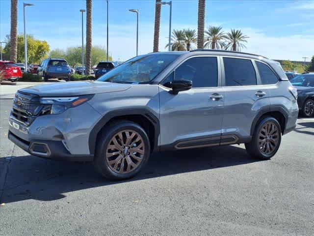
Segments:
[[[0,183],[3,184],[2,203],[28,199],[54,201],[82,189],[257,161],[238,146],[167,151],[153,155],[136,177],[110,181],[99,176],[92,163],[52,161],[30,155],[1,159],[7,162],[4,164],[8,170],[5,183]],[[0,163],[0,167],[5,165]]]

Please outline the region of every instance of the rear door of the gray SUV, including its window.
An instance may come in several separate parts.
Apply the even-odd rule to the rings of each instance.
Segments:
[[[270,108],[268,90],[253,60],[221,57],[221,62],[225,92],[222,136],[231,135],[245,142],[251,136],[254,118]]]

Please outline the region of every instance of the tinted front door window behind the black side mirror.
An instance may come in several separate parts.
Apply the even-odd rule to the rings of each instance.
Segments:
[[[217,87],[217,58],[191,58],[176,69],[175,80],[190,80],[193,88]]]

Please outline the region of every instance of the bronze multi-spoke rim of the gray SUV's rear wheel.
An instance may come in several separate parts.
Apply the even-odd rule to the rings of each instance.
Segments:
[[[265,155],[271,155],[279,144],[279,130],[272,121],[266,122],[260,130],[258,144],[260,151]]]

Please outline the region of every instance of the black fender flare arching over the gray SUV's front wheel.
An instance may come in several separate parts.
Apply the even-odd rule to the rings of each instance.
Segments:
[[[158,137],[160,134],[160,123],[159,119],[147,108],[128,108],[128,109],[120,109],[120,110],[113,110],[108,113],[106,113],[93,127],[89,134],[88,138],[88,146],[89,146],[89,152],[90,154],[95,154],[95,148],[96,148],[96,141],[97,141],[97,135],[101,131],[101,129],[106,125],[106,123],[115,117],[120,116],[128,116],[128,115],[141,115],[145,118],[147,118],[151,124],[155,128],[155,134],[154,134],[154,147],[153,151],[157,151],[158,149]]]

